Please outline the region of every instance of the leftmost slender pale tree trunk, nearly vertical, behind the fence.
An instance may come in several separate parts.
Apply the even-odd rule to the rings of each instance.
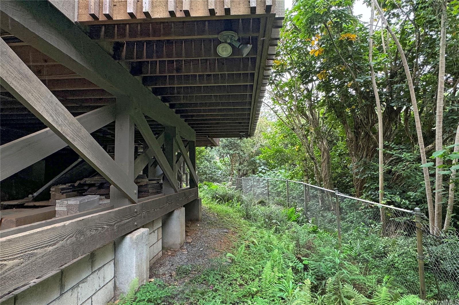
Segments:
[[[373,22],[374,22],[375,6],[371,4],[371,17],[369,29],[369,48],[368,48],[368,61],[370,66],[371,83],[373,85],[373,92],[375,93],[376,109],[378,114],[378,174],[379,174],[379,203],[383,204],[384,199],[384,155],[383,155],[383,133],[382,133],[382,110],[381,102],[379,100],[378,87],[376,85],[375,70],[373,68]],[[386,73],[387,74],[387,73]],[[385,231],[386,226],[386,211],[383,207],[380,209],[382,231]]]

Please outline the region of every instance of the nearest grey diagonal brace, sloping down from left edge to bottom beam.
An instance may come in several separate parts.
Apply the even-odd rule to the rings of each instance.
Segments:
[[[2,5],[3,8],[3,5]],[[137,201],[137,186],[22,60],[0,40],[1,85],[112,185]]]

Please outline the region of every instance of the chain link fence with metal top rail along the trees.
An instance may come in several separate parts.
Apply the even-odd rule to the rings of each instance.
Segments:
[[[392,281],[400,286],[400,294],[459,299],[459,236],[431,234],[419,209],[400,209],[291,180],[219,176],[212,182],[234,187],[254,203],[293,207],[308,222],[336,233],[340,246],[375,286]]]

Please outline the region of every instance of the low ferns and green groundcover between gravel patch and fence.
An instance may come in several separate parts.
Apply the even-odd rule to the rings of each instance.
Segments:
[[[234,248],[210,268],[177,267],[177,278],[199,269],[185,285],[157,280],[143,285],[133,305],[415,305],[419,300],[415,243],[409,238],[381,238],[378,230],[360,224],[350,234],[365,235],[364,242],[350,242],[348,236],[340,245],[336,232],[306,221],[301,211],[246,201],[239,191],[212,183],[202,184],[200,193],[207,209],[237,232]],[[448,282],[438,284],[442,297],[459,297]],[[429,299],[437,298],[433,286],[427,287]]]

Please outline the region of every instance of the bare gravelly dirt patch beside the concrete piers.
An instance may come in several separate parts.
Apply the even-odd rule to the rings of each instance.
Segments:
[[[179,250],[163,250],[150,266],[150,278],[180,285],[208,268],[212,259],[228,252],[235,242],[235,232],[216,215],[202,207],[201,221],[187,221],[184,245]]]

